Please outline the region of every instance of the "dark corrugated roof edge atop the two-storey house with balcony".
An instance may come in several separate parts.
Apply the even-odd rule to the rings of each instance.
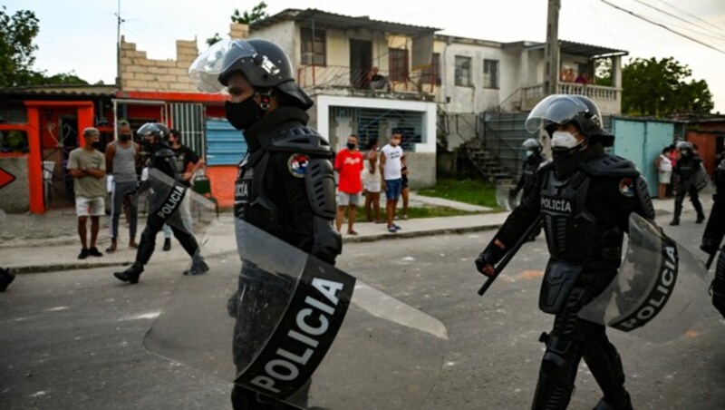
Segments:
[[[440,28],[425,27],[421,25],[400,24],[386,22],[382,20],[372,20],[367,15],[352,16],[338,15],[335,13],[325,12],[314,8],[306,10],[288,8],[276,15],[267,17],[266,19],[256,21],[249,25],[250,31],[260,29],[279,22],[294,20],[295,22],[312,21],[315,25],[327,26],[329,28],[356,29],[367,28],[371,30],[382,30],[396,34],[432,34],[440,31]]]

